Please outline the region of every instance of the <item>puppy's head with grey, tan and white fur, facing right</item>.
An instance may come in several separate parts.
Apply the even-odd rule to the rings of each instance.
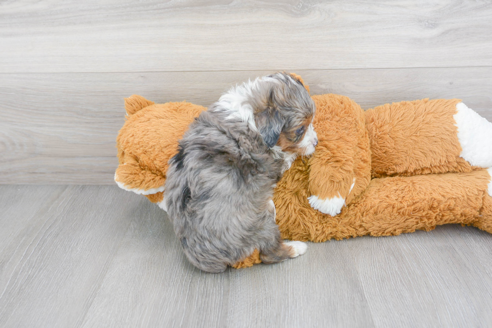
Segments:
[[[288,153],[311,155],[318,143],[312,125],[316,107],[304,85],[287,73],[257,81],[251,105],[265,144]]]

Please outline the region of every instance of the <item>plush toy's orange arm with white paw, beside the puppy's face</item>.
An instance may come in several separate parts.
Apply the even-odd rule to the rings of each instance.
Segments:
[[[309,204],[331,216],[340,213],[369,184],[371,157],[364,112],[338,95],[314,96],[318,133],[309,159]]]

